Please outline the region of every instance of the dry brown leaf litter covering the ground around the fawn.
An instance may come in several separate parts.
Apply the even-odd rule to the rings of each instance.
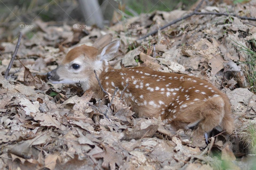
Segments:
[[[225,7],[250,16],[256,3],[237,4],[235,11],[229,4],[213,4],[202,12],[225,12]],[[248,60],[240,47],[251,48],[250,41],[256,37],[253,23],[246,24],[237,17],[198,15],[150,35],[147,41],[136,41],[188,12],[141,14],[107,30],[88,26],[89,35],[68,25],[35,21],[37,31],[33,38],[22,39],[17,54],[21,62],[14,61],[10,70],[13,76],[6,80],[0,75],[1,169],[221,169],[221,162],[242,169],[249,165],[251,159],[241,157],[247,151],[237,134],[256,123],[256,96],[246,81],[246,63],[239,61]],[[127,25],[139,28],[128,29]],[[194,129],[175,132],[159,119],[137,118],[120,96],[114,96],[107,119],[102,112],[111,97],[93,99],[92,92],[83,94],[79,84],[47,82],[46,73],[62,62],[67,51],[91,45],[93,39],[106,33],[122,42],[117,57],[110,61],[114,68],[146,66],[194,75],[227,94],[237,129],[231,136],[215,136],[212,150],[219,159],[213,152],[200,156],[207,145],[203,136],[194,136]],[[4,72],[15,43],[1,46],[5,49],[0,71]]]

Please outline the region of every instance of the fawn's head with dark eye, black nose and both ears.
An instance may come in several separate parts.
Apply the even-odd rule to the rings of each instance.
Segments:
[[[81,83],[84,90],[91,86],[97,74],[108,71],[108,62],[115,58],[120,45],[119,40],[112,42],[112,34],[98,38],[92,46],[82,45],[71,49],[62,64],[47,73],[51,83]]]

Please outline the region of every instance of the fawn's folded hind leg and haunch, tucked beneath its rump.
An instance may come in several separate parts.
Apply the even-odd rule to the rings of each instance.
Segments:
[[[184,108],[184,106],[186,106]],[[174,108],[169,106],[167,108],[171,112],[168,118],[169,123],[173,122],[184,122],[187,123],[189,127],[198,126],[198,132],[210,132],[217,126],[222,126],[222,119],[225,114],[224,100],[221,96],[216,95],[206,101],[197,102],[186,102],[183,106]]]

